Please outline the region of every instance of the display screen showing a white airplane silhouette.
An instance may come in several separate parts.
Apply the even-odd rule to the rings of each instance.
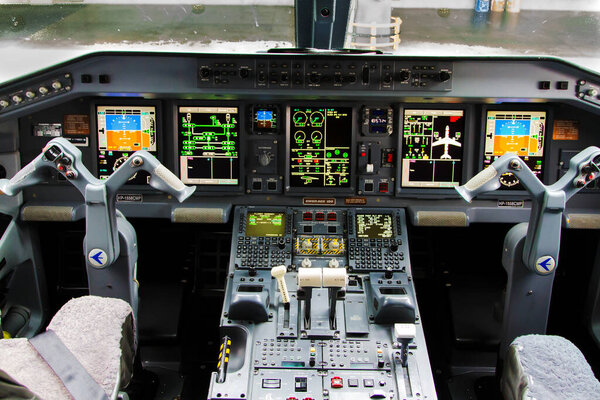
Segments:
[[[402,186],[460,185],[464,110],[404,110]]]

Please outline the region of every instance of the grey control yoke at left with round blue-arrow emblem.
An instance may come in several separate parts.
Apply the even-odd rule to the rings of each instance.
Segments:
[[[85,255],[89,266],[104,268],[119,256],[117,229],[117,190],[138,171],[150,173],[150,186],[174,196],[179,202],[196,189],[183,184],[171,171],[147,151],[137,151],[108,179],[95,178],[83,165],[81,151],[64,138],[48,142],[32,162],[12,179],[0,179],[0,191],[14,196],[47,176],[48,170],[58,170],[83,195],[86,205]],[[104,253],[104,254],[103,254]]]

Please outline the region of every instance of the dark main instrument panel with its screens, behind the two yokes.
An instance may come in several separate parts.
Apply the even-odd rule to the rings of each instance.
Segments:
[[[506,152],[556,181],[598,144],[599,82],[547,58],[98,53],[0,87],[0,164],[10,177],[62,136],[103,179],[147,150],[198,189],[179,205],[140,173],[119,208],[175,222],[224,222],[234,205],[406,207],[417,225],[517,222],[528,202],[516,177],[471,205],[453,188]],[[592,182],[569,203],[567,226],[598,213],[599,192]],[[58,173],[24,201],[83,216]]]

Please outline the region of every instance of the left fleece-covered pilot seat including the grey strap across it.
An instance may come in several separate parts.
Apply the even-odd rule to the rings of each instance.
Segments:
[[[67,302],[46,332],[0,340],[0,398],[126,399],[136,351],[131,306],[84,296]]]

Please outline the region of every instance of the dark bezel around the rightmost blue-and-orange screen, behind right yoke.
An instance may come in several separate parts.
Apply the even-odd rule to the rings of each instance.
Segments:
[[[473,175],[475,176],[477,173],[483,170],[483,160],[485,159],[485,132],[487,126],[487,113],[488,111],[523,111],[523,112],[545,112],[546,113],[546,132],[544,136],[546,137],[546,142],[544,143],[544,151],[542,156],[542,173],[540,175],[541,181],[543,184],[546,184],[548,181],[548,173],[549,169],[547,166],[548,157],[550,157],[550,151],[552,146],[552,131],[554,127],[552,110],[550,107],[539,106],[539,105],[531,105],[527,103],[506,103],[502,105],[484,105],[481,108],[481,121],[480,121],[480,129],[481,129],[481,137],[479,140],[479,157],[477,160],[477,165],[475,171],[473,171]],[[527,195],[528,192],[526,189],[498,189],[494,191],[493,194],[487,193],[481,196],[515,196],[515,195]]]

